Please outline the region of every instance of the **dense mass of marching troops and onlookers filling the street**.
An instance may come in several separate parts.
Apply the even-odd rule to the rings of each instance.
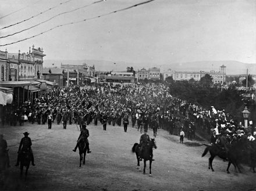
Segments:
[[[132,127],[137,122],[138,129],[143,125],[147,131],[152,124],[156,124],[172,135],[179,135],[180,129],[184,129],[189,139],[195,136],[195,131],[210,134],[215,128],[220,134],[228,131],[233,135],[238,130],[246,130],[224,110],[216,111],[213,106],[206,110],[177,99],[169,94],[165,85],[74,86],[56,88],[51,95],[35,98],[33,103],[26,101],[20,107],[9,107],[2,115],[2,124],[23,125],[28,120],[32,124],[48,123],[51,128],[56,120],[65,129],[67,124],[73,122],[81,128],[83,123],[89,125],[94,122],[98,125],[99,121],[106,130],[106,125],[121,126],[123,120],[124,131],[127,131],[131,118]]]

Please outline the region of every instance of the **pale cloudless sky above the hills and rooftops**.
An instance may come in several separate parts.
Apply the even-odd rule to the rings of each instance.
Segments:
[[[114,12],[144,1],[1,0],[0,28],[34,17],[1,29],[0,45],[67,25],[0,50],[29,52],[35,45],[43,48],[44,59],[52,60],[256,63],[255,0],[155,0]]]

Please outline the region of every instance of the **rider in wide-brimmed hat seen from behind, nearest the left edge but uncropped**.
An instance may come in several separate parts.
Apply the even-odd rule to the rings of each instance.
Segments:
[[[17,157],[17,163],[15,164],[15,166],[19,166],[20,163],[20,154],[22,154],[22,152],[29,152],[30,156],[31,156],[31,164],[34,166],[34,155],[33,155],[33,151],[31,149],[31,139],[29,138],[29,133],[28,132],[24,132],[24,137],[22,138],[22,140],[20,140],[20,146],[19,146],[19,151],[18,151],[18,157]]]

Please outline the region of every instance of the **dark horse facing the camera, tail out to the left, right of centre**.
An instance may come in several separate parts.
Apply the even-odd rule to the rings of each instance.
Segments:
[[[140,169],[140,158],[144,159],[144,169],[143,169],[143,173],[145,174],[145,167],[146,167],[146,161],[149,160],[150,161],[150,176],[151,176],[151,164],[152,164],[152,156],[151,156],[151,151],[153,149],[153,147],[155,149],[157,149],[157,145],[155,143],[155,139],[151,139],[150,142],[147,143],[147,145],[145,145],[144,151],[141,153],[140,150],[140,145],[138,145],[138,143],[134,143],[133,148],[131,149],[131,151],[134,153],[136,153],[136,157],[137,157],[137,168]]]

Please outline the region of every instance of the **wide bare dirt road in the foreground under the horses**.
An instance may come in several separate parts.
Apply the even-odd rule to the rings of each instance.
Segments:
[[[140,139],[136,128],[107,125],[88,125],[92,153],[86,156],[86,165],[79,168],[79,153],[72,149],[79,131],[75,124],[31,125],[3,127],[0,133],[9,145],[11,167],[5,173],[0,190],[256,190],[256,174],[244,166],[243,173],[226,173],[227,162],[214,160],[215,172],[208,170],[208,157],[201,157],[205,146],[189,146],[191,141],[159,130],[154,150],[152,177],[136,169],[137,160],[131,147]],[[23,132],[28,131],[33,142],[35,167],[31,166],[27,181],[15,167],[17,149]],[[149,131],[152,136],[152,131]],[[148,162],[147,162],[147,165]],[[143,167],[143,163],[141,163]]]

